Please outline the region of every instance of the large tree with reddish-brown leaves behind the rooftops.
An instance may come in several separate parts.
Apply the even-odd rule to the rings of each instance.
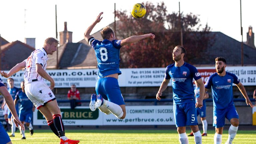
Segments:
[[[166,67],[172,60],[172,51],[180,45],[180,29],[183,31],[183,46],[187,50],[185,61],[196,64],[205,54],[205,49],[214,42],[210,35],[210,27],[206,24],[201,29],[198,15],[181,13],[181,23],[178,12],[167,13],[164,2],[156,6],[151,2],[144,4],[147,14],[136,19],[127,15],[127,11],[117,11],[117,38],[131,35],[153,33],[155,40],[143,39],[137,43],[126,45],[121,50],[123,68]],[[201,30],[200,30],[201,29]]]

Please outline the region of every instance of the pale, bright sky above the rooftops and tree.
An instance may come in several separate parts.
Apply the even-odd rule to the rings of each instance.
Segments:
[[[159,0],[149,0],[157,4]],[[43,46],[47,37],[55,37],[55,4],[57,4],[58,32],[64,30],[67,22],[68,31],[73,32],[73,42],[83,39],[83,33],[103,11],[103,19],[93,32],[114,21],[114,3],[117,10],[128,12],[138,0],[5,0],[0,2],[0,34],[7,41],[22,41],[24,38],[36,38],[36,48]],[[240,34],[240,0],[163,0],[167,11],[177,12],[179,2],[184,14],[192,12],[200,15],[201,24],[208,25],[212,31],[220,31],[238,41]],[[256,28],[256,1],[242,0],[243,41],[246,41],[248,27]],[[26,9],[26,13],[25,13]],[[26,16],[25,16],[26,14]],[[26,23],[25,23],[26,21]]]

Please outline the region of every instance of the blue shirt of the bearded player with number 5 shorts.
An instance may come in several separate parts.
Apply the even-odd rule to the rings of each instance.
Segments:
[[[165,79],[172,81],[173,104],[195,102],[193,78],[200,79],[200,73],[186,62],[181,67],[175,66],[175,63],[166,67]]]

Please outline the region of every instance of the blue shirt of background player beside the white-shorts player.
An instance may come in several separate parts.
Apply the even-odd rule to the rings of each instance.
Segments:
[[[17,100],[20,100],[20,112],[32,112],[33,103],[28,99],[27,95],[21,90],[17,92]]]

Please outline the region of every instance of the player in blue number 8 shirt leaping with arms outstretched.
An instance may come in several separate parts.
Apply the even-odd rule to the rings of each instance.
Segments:
[[[123,40],[116,40],[115,32],[109,27],[103,28],[101,36],[103,41],[96,40],[90,35],[94,26],[101,21],[101,12],[96,20],[87,28],[84,38],[95,50],[98,62],[98,80],[96,92],[91,96],[90,109],[95,111],[99,108],[105,114],[114,114],[117,118],[124,119],[126,116],[125,103],[118,84],[119,53],[120,48],[144,38],[155,38],[154,34],[131,36]]]

